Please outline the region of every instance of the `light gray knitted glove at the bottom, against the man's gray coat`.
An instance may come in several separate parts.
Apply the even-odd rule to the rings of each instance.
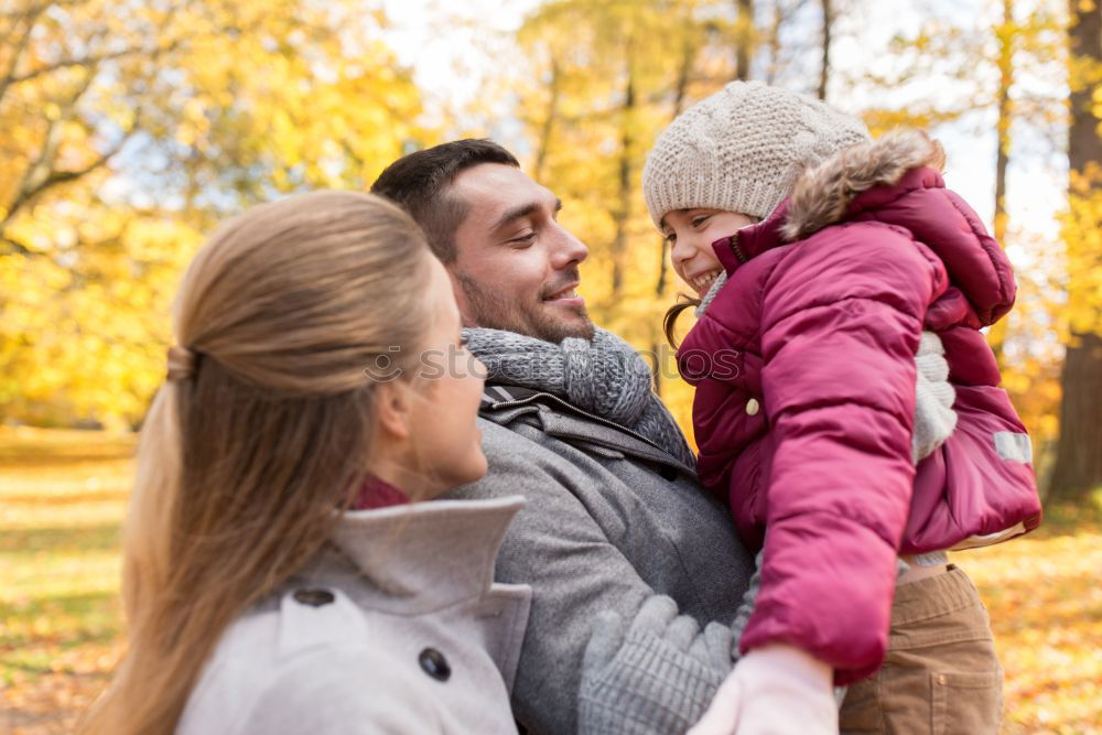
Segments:
[[[604,613],[582,661],[577,728],[584,735],[684,733],[731,671],[731,629],[678,615],[665,596],[626,626]]]

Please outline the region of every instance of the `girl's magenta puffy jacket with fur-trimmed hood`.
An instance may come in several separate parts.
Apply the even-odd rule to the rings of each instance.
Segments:
[[[883,660],[898,554],[1040,522],[1028,436],[979,332],[1014,303],[1011,264],[921,165],[929,152],[917,133],[850,149],[713,244],[728,281],[678,350],[701,479],[765,547],[742,649],[798,646],[839,684]],[[959,418],[916,472],[923,328],[944,345]]]

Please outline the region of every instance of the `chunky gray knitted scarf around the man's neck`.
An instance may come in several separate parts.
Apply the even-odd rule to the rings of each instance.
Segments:
[[[689,467],[696,458],[651,389],[647,361],[612,332],[591,342],[553,344],[516,332],[464,329],[471,352],[486,365],[487,381],[542,390],[646,436]]]

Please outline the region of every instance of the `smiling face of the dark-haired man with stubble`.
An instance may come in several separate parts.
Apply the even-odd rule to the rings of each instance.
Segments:
[[[555,221],[554,194],[515,166],[482,163],[456,176],[449,196],[468,207],[449,264],[467,326],[557,344],[593,337],[585,301],[574,291],[590,251]]]

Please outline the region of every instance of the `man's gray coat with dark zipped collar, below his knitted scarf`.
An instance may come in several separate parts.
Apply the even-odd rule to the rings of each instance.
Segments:
[[[617,614],[626,633],[668,595],[701,625],[730,624],[754,562],[693,469],[647,440],[550,393],[486,396],[489,473],[449,497],[528,499],[497,562],[498,581],[533,591],[514,711],[533,733],[571,733],[599,614]]]

